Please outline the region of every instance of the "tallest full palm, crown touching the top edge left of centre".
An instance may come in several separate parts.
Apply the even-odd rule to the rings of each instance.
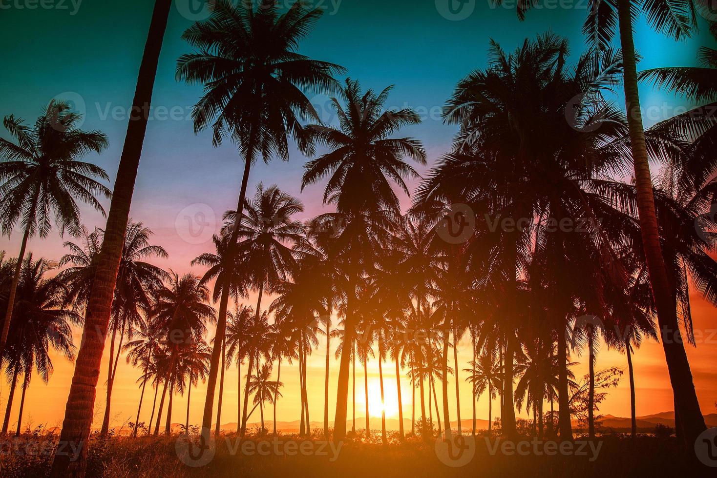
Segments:
[[[217,0],[209,19],[196,22],[182,35],[196,51],[179,57],[176,77],[204,84],[205,91],[192,112],[194,130],[204,130],[213,122],[214,145],[229,135],[244,159],[237,225],[242,223],[249,172],[257,157],[268,161],[276,155],[288,160],[289,137],[301,152],[312,151],[300,119],[318,119],[318,115],[302,89],[330,91],[336,83],[332,75],[343,71],[296,52],[298,43],[322,13],[320,9],[306,9],[300,1],[280,14],[270,0],[261,0],[256,8]],[[232,230],[230,254],[234,253],[238,233],[237,228]],[[229,296],[222,294],[202,421],[207,430],[212,424],[228,301]]]

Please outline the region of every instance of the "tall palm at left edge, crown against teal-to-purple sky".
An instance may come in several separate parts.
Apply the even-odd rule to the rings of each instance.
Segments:
[[[32,127],[13,115],[4,118],[5,129],[17,144],[0,138],[0,226],[9,236],[19,220],[24,233],[0,331],[0,357],[10,329],[27,240],[36,233],[47,237],[53,214],[60,233],[67,230],[78,235],[77,199],[105,213],[97,196],[110,197],[110,190],[93,178],[108,180],[108,175],[82,157],[92,151],[102,152],[109,143],[102,132],[80,130],[77,124],[81,119],[65,102],[51,102]]]

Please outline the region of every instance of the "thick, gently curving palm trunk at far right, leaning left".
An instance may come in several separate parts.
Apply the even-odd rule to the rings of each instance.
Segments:
[[[625,69],[625,106],[627,127],[630,133],[630,147],[635,167],[637,189],[637,212],[640,217],[642,247],[645,250],[647,270],[650,273],[652,296],[657,308],[661,342],[675,395],[676,408],[680,413],[685,443],[693,446],[698,435],[707,429],[700,404],[695,394],[690,363],[685,353],[677,320],[677,306],[673,285],[670,284],[665,260],[660,247],[660,235],[655,215],[655,196],[652,192],[650,164],[647,162],[645,130],[642,127],[642,111],[637,89],[637,60],[632,37],[632,15],[630,0],[617,2],[620,44]]]

